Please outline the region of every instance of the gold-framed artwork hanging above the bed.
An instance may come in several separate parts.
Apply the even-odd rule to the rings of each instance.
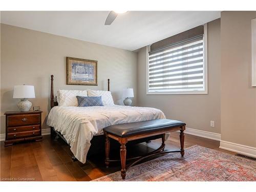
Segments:
[[[67,84],[97,86],[96,60],[67,57]]]

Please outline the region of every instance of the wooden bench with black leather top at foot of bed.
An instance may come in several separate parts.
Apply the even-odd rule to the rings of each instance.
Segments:
[[[185,130],[185,123],[177,120],[170,120],[170,119],[155,119],[155,120],[148,120],[148,121],[140,121],[134,123],[124,123],[124,124],[117,124],[105,127],[103,129],[105,135],[105,164],[106,167],[109,167],[110,160],[110,139],[117,140],[120,146],[120,158],[121,158],[121,176],[122,179],[126,176],[126,171],[134,164],[138,163],[139,161],[151,157],[154,155],[164,154],[164,153],[177,153],[180,152],[181,156],[184,156],[184,130]],[[181,150],[178,151],[164,151],[165,147],[165,134],[169,132],[180,131],[180,145]],[[126,166],[126,146],[125,144],[128,141],[146,138],[150,136],[162,135],[162,145],[155,151],[146,154],[145,156],[140,156],[132,159],[137,159],[136,161],[130,163]],[[127,159],[128,160],[128,159]]]

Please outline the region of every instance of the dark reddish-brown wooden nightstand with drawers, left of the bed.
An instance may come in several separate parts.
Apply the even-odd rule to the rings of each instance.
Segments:
[[[41,141],[41,113],[41,111],[5,112],[5,146],[25,140]]]

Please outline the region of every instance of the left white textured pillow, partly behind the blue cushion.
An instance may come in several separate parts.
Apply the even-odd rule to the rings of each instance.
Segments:
[[[58,90],[57,101],[59,106],[78,106],[76,96],[87,97],[87,90]]]

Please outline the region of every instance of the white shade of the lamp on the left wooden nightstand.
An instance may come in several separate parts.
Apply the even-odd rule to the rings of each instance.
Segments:
[[[14,86],[13,98],[35,98],[34,86]]]

